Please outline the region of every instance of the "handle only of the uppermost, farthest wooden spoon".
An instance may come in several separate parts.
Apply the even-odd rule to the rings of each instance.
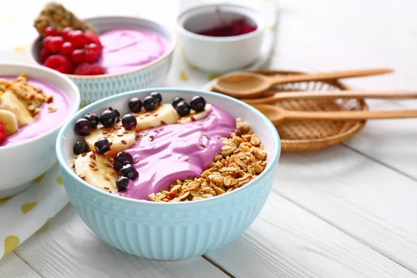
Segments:
[[[320,74],[291,74],[288,76],[271,76],[268,77],[272,84],[293,83],[300,81],[319,81],[326,79],[341,79],[347,77],[370,76],[377,74],[388,74],[393,70],[388,68],[369,69],[369,70],[346,70],[343,72],[327,72]]]

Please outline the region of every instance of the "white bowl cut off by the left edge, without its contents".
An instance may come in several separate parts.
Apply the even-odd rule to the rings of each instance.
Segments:
[[[72,105],[67,118],[79,109],[79,89],[67,76],[37,65],[0,63],[0,76],[18,76],[23,72],[65,92]],[[24,190],[56,163],[55,142],[62,124],[35,138],[0,147],[0,199]]]

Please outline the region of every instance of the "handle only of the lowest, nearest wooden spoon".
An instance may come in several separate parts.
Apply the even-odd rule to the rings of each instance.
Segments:
[[[417,117],[417,110],[334,112],[282,111],[282,113],[284,113],[285,120],[371,120]]]

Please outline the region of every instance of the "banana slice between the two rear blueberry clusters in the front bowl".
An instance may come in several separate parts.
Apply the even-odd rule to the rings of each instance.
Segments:
[[[146,111],[139,113],[136,120],[138,121],[136,131],[142,131],[163,124],[174,124],[179,120],[179,115],[171,104],[162,104],[152,113]]]

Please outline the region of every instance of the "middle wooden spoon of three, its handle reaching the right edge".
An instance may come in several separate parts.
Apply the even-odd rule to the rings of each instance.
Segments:
[[[417,92],[411,91],[316,91],[316,92],[277,92],[271,97],[259,99],[240,99],[247,104],[273,104],[288,99],[417,99]]]

